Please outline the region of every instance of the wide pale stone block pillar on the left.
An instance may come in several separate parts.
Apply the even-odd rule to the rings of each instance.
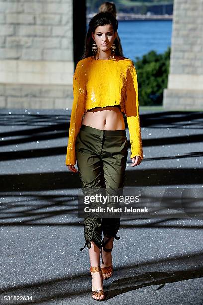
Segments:
[[[71,108],[73,73],[72,0],[0,0],[0,108]]]

